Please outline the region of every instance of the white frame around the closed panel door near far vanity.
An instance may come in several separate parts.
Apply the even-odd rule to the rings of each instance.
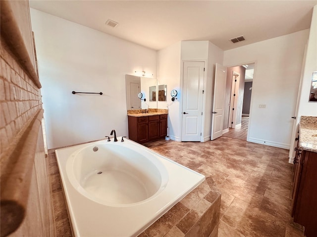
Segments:
[[[179,139],[178,141],[181,142],[182,141],[182,125],[183,125],[183,116],[182,116],[182,112],[183,112],[183,76],[184,76],[184,62],[204,62],[205,65],[205,71],[204,71],[204,82],[203,82],[203,90],[206,91],[206,83],[207,83],[207,71],[208,71],[208,60],[202,59],[194,59],[194,60],[190,60],[190,59],[186,59],[186,60],[181,60],[181,71],[180,71],[180,100],[179,100]],[[202,116],[202,125],[201,125],[201,142],[204,142],[204,127],[205,127],[205,112],[206,112],[206,93],[203,93],[203,116]],[[176,138],[175,138],[176,140]],[[177,141],[177,140],[176,140]]]

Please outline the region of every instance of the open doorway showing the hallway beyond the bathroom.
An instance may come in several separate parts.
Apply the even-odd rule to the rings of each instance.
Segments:
[[[229,85],[226,88],[227,114],[223,136],[248,139],[254,65],[250,63],[227,68]]]

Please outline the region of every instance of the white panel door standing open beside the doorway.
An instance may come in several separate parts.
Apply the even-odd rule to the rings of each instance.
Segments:
[[[223,107],[225,99],[227,69],[216,64],[214,75],[211,140],[222,136]]]

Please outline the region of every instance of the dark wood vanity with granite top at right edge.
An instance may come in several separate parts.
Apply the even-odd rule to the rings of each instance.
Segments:
[[[292,217],[305,227],[307,237],[317,233],[317,117],[302,116],[294,158]]]

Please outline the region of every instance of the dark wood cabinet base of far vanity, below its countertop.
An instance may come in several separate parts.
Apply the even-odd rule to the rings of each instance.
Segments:
[[[129,139],[145,143],[164,138],[167,134],[167,115],[128,116]]]

